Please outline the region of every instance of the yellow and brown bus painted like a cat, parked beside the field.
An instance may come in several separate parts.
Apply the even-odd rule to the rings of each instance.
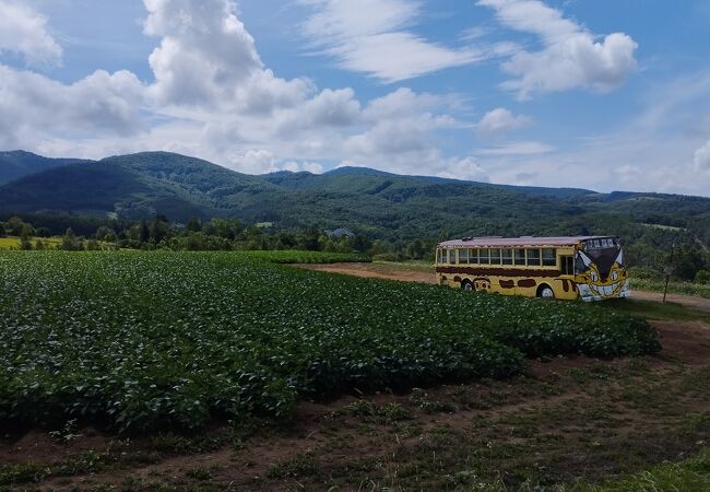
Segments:
[[[600,301],[629,295],[616,236],[464,237],[437,245],[438,283],[469,291]]]

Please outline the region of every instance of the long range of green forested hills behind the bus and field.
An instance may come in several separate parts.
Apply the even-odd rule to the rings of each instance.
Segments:
[[[276,229],[348,227],[391,242],[612,233],[643,236],[650,248],[678,234],[710,245],[710,199],[701,197],[516,187],[357,167],[252,176],[165,152],[63,163],[1,186],[0,212],[131,220],[164,214],[178,222],[229,216]]]

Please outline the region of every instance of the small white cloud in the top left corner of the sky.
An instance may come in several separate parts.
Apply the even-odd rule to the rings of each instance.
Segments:
[[[0,0],[0,55],[20,54],[32,67],[61,63],[61,46],[47,32],[47,19],[19,1]]]

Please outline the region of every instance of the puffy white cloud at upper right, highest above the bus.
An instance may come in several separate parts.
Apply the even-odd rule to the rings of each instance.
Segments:
[[[535,92],[575,87],[611,91],[636,68],[638,44],[627,34],[599,38],[539,0],[480,0],[478,4],[493,8],[506,27],[535,34],[543,42],[542,50],[520,50],[502,63],[516,77],[502,86],[521,99]]]

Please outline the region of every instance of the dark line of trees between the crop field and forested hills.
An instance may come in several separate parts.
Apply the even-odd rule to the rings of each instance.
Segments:
[[[437,237],[406,239],[371,238],[367,234],[334,235],[316,225],[284,231],[270,224],[244,224],[236,219],[190,219],[187,224],[173,223],[164,215],[139,221],[96,220],[94,218],[71,218],[81,232],[72,226],[63,234],[56,233],[55,222],[35,226],[20,216],[0,221],[0,237],[9,235],[20,238],[21,249],[58,248],[64,250],[95,249],[171,249],[171,250],[249,250],[249,249],[304,249],[333,253],[365,253],[379,260],[427,260],[434,261],[434,250],[439,241],[452,237],[447,230]],[[64,224],[67,218],[58,221]],[[97,222],[98,221],[98,222]],[[47,224],[47,219],[39,221]],[[92,225],[99,224],[86,233]],[[593,224],[593,221],[587,222]],[[624,227],[617,224],[625,239],[627,263],[643,267],[649,276],[663,274],[671,268],[674,278],[686,281],[708,282],[710,259],[702,243],[691,235],[674,234],[676,244],[671,256],[665,245],[671,232],[654,227]],[[561,232],[561,231],[560,231]],[[639,234],[640,232],[640,234]],[[557,233],[557,231],[555,231]],[[594,234],[596,231],[581,231]],[[55,239],[50,241],[50,237]],[[57,236],[60,236],[57,239]]]

